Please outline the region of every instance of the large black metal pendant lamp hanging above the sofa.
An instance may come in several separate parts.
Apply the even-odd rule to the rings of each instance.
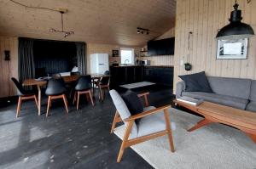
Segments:
[[[254,31],[251,25],[242,23],[241,10],[238,10],[238,3],[236,2],[233,6],[233,10],[230,14],[230,24],[225,25],[220,31],[216,38],[218,40],[228,40],[228,39],[242,39],[254,36]]]

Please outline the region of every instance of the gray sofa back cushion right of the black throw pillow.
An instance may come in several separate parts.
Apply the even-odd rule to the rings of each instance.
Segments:
[[[227,77],[207,77],[213,93],[233,96],[241,99],[249,99],[252,80],[227,78]]]

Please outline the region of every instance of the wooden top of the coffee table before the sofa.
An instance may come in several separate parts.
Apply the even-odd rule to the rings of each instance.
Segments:
[[[198,106],[186,104],[177,100],[174,100],[174,103],[181,105],[189,110],[198,112],[201,115],[209,115],[213,118],[228,121],[236,125],[241,124],[241,127],[256,129],[256,113],[251,111],[239,110],[233,107],[221,104],[214,104],[207,101],[204,101]]]

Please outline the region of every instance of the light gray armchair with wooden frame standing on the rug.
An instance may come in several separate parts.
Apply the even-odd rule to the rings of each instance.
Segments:
[[[170,105],[159,108],[148,106],[144,108],[142,113],[131,115],[119,93],[115,90],[111,90],[109,93],[116,107],[111,132],[113,132],[117,122],[123,121],[125,123],[125,134],[119,149],[117,162],[121,161],[126,148],[164,135],[167,135],[171,151],[174,152],[172,128],[169,119]],[[140,97],[145,98],[145,95],[147,94],[140,95]],[[135,121],[138,119],[140,121]]]

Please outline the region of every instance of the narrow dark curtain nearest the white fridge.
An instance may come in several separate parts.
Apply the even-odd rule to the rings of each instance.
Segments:
[[[86,75],[86,43],[76,42],[78,67],[81,75]]]

